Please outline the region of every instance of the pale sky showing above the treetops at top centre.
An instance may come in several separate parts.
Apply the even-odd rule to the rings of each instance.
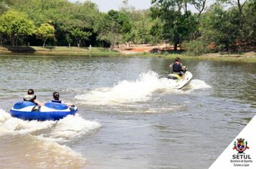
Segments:
[[[76,2],[78,0],[69,0],[71,2]],[[80,2],[84,2],[86,0],[79,0]],[[95,3],[99,7],[99,11],[110,11],[111,9],[118,10],[122,5],[122,0],[90,0]],[[128,3],[131,6],[134,6],[135,9],[149,9],[151,0],[129,0]]]

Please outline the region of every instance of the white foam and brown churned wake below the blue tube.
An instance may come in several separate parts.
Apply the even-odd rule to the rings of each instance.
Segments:
[[[68,115],[58,121],[24,121],[0,109],[0,137],[5,135],[4,137],[15,137],[12,140],[19,140],[17,144],[9,146],[9,153],[12,150],[17,153],[17,149],[21,149],[19,152],[27,154],[22,158],[19,158],[19,154],[10,154],[9,157],[18,158],[19,162],[21,159],[29,161],[33,158],[34,161],[29,163],[34,163],[33,166],[40,165],[40,168],[81,168],[85,165],[86,158],[68,148],[65,143],[99,127],[99,122],[84,120],[79,114]]]

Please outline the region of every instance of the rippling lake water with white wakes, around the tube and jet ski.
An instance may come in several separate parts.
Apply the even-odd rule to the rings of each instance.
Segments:
[[[256,64],[183,59],[193,80],[173,90],[173,59],[0,57],[0,168],[209,168],[256,113]],[[9,115],[29,88],[78,106],[59,121]]]

